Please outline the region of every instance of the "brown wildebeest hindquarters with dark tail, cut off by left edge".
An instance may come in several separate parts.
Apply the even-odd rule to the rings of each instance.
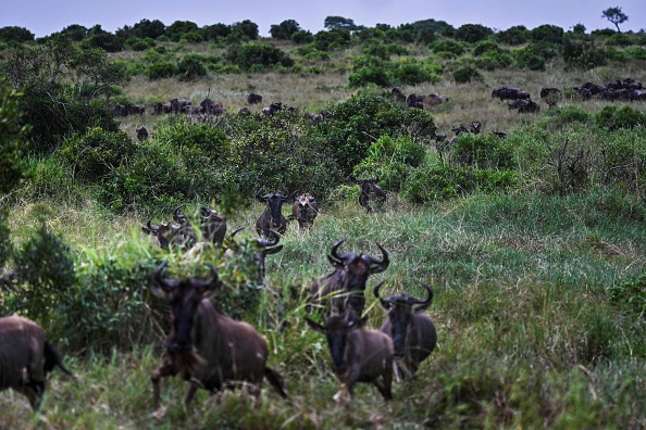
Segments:
[[[25,394],[37,409],[45,394],[47,374],[57,366],[76,379],[45,339],[40,326],[17,315],[0,318],[0,391],[13,389]]]

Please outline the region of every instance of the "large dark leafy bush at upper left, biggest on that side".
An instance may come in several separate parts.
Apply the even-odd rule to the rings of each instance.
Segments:
[[[49,151],[58,139],[90,127],[117,129],[108,99],[125,73],[101,50],[57,35],[42,47],[12,49],[0,73],[12,88],[23,89],[21,124],[33,126],[33,149]]]

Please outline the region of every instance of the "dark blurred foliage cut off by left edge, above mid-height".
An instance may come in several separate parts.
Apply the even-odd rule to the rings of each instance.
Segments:
[[[0,197],[9,194],[25,173],[26,138],[30,127],[21,126],[20,98],[18,92],[0,81]]]

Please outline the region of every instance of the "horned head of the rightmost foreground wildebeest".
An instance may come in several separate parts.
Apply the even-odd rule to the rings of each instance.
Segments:
[[[390,321],[393,344],[395,346],[395,357],[397,359],[403,358],[406,354],[406,336],[408,328],[417,314],[421,314],[431,306],[433,301],[433,290],[425,283],[422,287],[426,290],[426,300],[415,299],[412,295],[400,293],[396,295],[388,295],[380,298],[380,288],[384,282],[377,284],[374,289],[374,296],[380,300],[384,309],[388,312],[388,319]]]

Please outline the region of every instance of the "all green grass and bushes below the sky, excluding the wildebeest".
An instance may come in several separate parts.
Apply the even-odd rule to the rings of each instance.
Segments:
[[[0,428],[646,427],[646,102],[572,89],[646,79],[646,36],[620,33],[612,9],[617,30],[592,33],[340,16],[316,34],[287,20],[271,38],[250,21],[71,25],[41,39],[0,29],[0,316],[40,324],[78,376],[52,374],[36,413],[1,392]],[[409,109],[395,86],[448,101]],[[492,98],[502,86],[541,111]],[[561,89],[555,105],[543,87]],[[263,103],[248,105],[250,92]],[[207,97],[226,112],[152,114]],[[271,102],[283,110],[261,114]],[[146,113],[117,116],[115,104]],[[479,134],[451,139],[472,122]],[[361,177],[388,194],[375,212],[359,206]],[[289,224],[264,282],[259,190],[309,192],[321,207],[311,230]],[[152,246],[141,226],[171,222],[177,205],[245,227],[235,256],[229,239],[199,253]],[[325,340],[306,324],[309,287],[332,271],[325,254],[340,239],[390,253],[368,282],[369,327],[386,315],[377,282],[435,293],[437,349],[390,402],[360,384],[337,404]],[[163,261],[172,277],[216,267],[214,303],[268,340],[288,400],[265,388],[257,407],[245,391],[220,402],[201,391],[186,408],[175,378],[153,416],[169,309],[148,279]]]

